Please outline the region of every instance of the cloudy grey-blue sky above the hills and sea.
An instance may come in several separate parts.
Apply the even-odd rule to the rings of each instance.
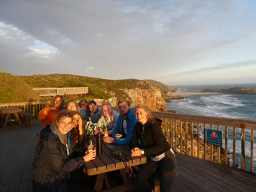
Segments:
[[[256,82],[255,0],[0,0],[0,71]]]

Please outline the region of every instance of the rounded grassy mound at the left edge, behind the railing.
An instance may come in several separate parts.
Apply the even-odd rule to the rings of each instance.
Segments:
[[[38,94],[21,78],[0,72],[0,103],[41,100]]]

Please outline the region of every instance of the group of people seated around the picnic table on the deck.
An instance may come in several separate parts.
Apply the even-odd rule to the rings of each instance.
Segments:
[[[79,109],[80,108],[80,109]],[[161,191],[171,191],[176,176],[176,159],[161,131],[161,120],[152,116],[149,107],[128,100],[118,102],[119,114],[109,102],[97,106],[94,100],[66,102],[55,96],[50,105],[38,114],[43,129],[36,146],[33,164],[33,191],[65,191],[68,175],[80,169],[85,161],[95,159],[96,151],[85,148],[85,124],[88,121],[106,128],[103,141],[132,147],[131,156],[147,156],[136,176],[137,191],[152,191],[148,179],[157,174]],[[97,129],[102,132],[102,129]]]

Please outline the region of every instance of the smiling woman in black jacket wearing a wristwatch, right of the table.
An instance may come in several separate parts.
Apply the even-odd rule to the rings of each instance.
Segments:
[[[161,120],[155,119],[146,105],[139,104],[134,109],[139,122],[135,124],[131,140],[132,156],[147,156],[136,176],[137,191],[152,191],[148,178],[157,174],[161,181],[161,191],[171,191],[176,176],[176,158],[171,146],[161,130]],[[142,142],[139,149],[138,141]]]

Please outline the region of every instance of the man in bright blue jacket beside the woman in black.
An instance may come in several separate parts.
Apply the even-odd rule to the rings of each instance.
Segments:
[[[119,116],[117,118],[117,124],[114,126],[112,137],[104,137],[103,140],[106,143],[130,144],[134,127],[138,120],[128,100],[119,101],[118,108]]]

